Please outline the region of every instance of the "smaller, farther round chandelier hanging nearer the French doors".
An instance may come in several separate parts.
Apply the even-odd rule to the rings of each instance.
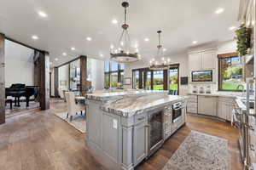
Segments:
[[[163,46],[161,45],[160,33],[162,31],[157,31],[158,33],[158,46],[155,59],[150,60],[149,69],[154,71],[168,70],[170,68],[170,59],[165,59]],[[161,59],[159,62],[158,60]]]

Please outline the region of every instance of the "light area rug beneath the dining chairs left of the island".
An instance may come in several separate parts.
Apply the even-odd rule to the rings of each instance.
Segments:
[[[78,129],[81,133],[86,132],[86,121],[85,121],[84,114],[83,116],[79,114],[76,116],[73,116],[72,122],[70,122],[69,118],[67,118],[67,112],[55,113],[55,116],[60,117],[63,121],[67,122],[69,125]]]

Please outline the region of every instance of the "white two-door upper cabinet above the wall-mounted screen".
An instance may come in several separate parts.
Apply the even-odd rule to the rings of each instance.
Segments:
[[[212,70],[216,68],[217,56],[215,50],[189,54],[190,71]]]

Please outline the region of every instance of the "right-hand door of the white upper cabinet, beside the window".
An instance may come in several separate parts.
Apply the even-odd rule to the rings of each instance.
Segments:
[[[206,51],[201,54],[201,68],[202,69],[215,69],[217,56],[214,51]]]

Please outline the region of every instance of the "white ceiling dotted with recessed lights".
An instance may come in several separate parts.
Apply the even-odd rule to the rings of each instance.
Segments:
[[[1,0],[0,32],[34,48],[49,51],[53,65],[60,65],[80,54],[109,59],[110,44],[121,33],[124,9],[120,0]],[[143,59],[156,53],[157,34],[162,30],[166,55],[198,44],[230,40],[237,26],[239,0],[130,0],[128,24],[133,43]],[[217,8],[224,13],[215,14]],[[38,11],[48,14],[47,18]],[[113,25],[111,20],[119,23]],[[32,40],[37,35],[38,40]],[[86,37],[91,37],[88,42]],[[144,42],[148,37],[149,42]],[[72,51],[70,48],[75,47]],[[62,56],[62,53],[67,56]],[[100,54],[104,56],[101,57]],[[58,58],[58,61],[55,61]]]

